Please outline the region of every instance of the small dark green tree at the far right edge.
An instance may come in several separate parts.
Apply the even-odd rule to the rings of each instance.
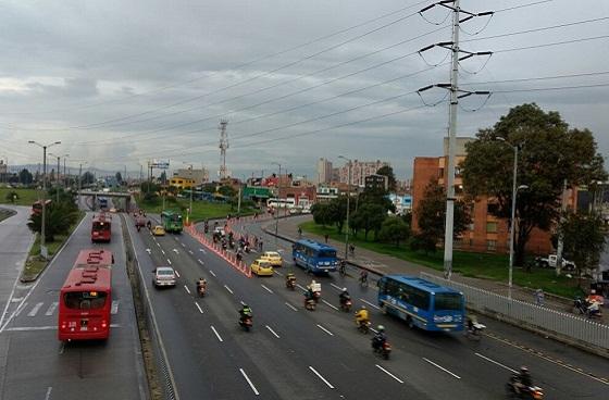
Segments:
[[[600,253],[607,240],[604,218],[596,212],[567,212],[558,227],[562,234],[564,253],[575,263],[577,276],[587,270],[598,267]]]

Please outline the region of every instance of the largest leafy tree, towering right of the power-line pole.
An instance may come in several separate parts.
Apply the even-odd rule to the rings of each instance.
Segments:
[[[498,140],[497,138],[501,138]],[[501,116],[492,128],[481,129],[467,145],[460,165],[464,189],[473,198],[487,196],[497,202],[493,214],[511,217],[513,146],[520,147],[515,215],[515,264],[522,265],[524,249],[534,227],[549,230],[558,222],[563,182],[570,186],[605,180],[602,157],[588,129],[570,129],[558,112],[522,104]]]

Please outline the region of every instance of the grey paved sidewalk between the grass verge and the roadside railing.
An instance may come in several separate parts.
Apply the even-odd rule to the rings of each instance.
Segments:
[[[309,221],[311,218],[310,215],[307,216],[298,216],[298,217],[289,217],[285,220],[281,220],[278,223],[278,236],[283,237],[284,239],[295,241],[298,238],[298,225],[302,222]],[[274,226],[273,229],[266,229],[266,225],[263,225],[263,229],[270,234],[274,235]],[[318,235],[302,233],[303,238],[310,238],[316,241],[324,241],[324,238]],[[345,254],[345,243],[339,242],[336,240],[328,240],[328,245],[333,246],[338,250],[338,255]],[[414,264],[412,262],[403,261],[396,259],[390,255],[381,254],[368,249],[363,248],[356,248],[355,257],[349,255],[348,261],[350,264],[370,271],[371,273],[377,275],[386,275],[386,274],[408,274],[408,275],[419,275],[421,272],[425,272],[428,274],[444,276],[442,271],[437,271],[434,268],[430,268],[427,266]],[[497,295],[508,296],[508,285],[507,283],[499,283],[494,280],[487,279],[478,279],[478,278],[470,278],[464,277],[459,274],[452,274],[452,280],[460,282],[470,286],[477,287],[480,289],[484,289]],[[534,298],[534,290],[529,288],[522,288],[519,286],[512,286],[512,298],[521,301],[525,301],[529,303],[535,303]],[[572,313],[573,303],[571,299],[554,296],[554,295],[545,295],[544,307],[560,311]],[[608,321],[607,312],[604,313],[604,323]]]

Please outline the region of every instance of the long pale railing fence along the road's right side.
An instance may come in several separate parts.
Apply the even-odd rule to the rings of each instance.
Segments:
[[[506,296],[424,272],[421,273],[421,277],[461,291],[465,296],[468,307],[473,310],[490,313],[499,318],[511,320],[519,325],[543,330],[557,339],[567,339],[585,347],[600,348],[605,352],[609,349],[609,326],[607,325],[525,301],[509,299]]]

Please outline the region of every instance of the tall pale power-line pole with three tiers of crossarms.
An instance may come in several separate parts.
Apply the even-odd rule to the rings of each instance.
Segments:
[[[449,5],[452,3],[452,5]],[[474,55],[490,55],[489,51],[484,52],[469,52],[463,51],[459,48],[459,32],[461,22],[465,22],[475,16],[490,15],[493,12],[484,12],[474,14],[468,11],[461,10],[460,0],[453,1],[439,1],[434,4],[427,5],[420,12],[423,13],[434,7],[444,7],[452,11],[452,41],[450,42],[439,42],[436,45],[427,46],[421,50],[419,53],[427,51],[434,47],[442,47],[451,52],[451,70],[450,70],[450,84],[436,84],[426,86],[419,89],[419,93],[428,90],[433,87],[444,88],[450,91],[450,107],[449,107],[449,126],[448,126],[448,165],[446,174],[446,223],[445,223],[445,234],[444,234],[444,275],[447,279],[450,279],[452,275],[452,240],[455,236],[455,151],[457,147],[457,111],[459,105],[459,99],[471,96],[471,95],[490,95],[488,91],[465,91],[459,89],[459,62],[469,59]],[[461,20],[461,14],[467,14],[468,16]],[[465,53],[464,57],[459,57],[461,53]]]

